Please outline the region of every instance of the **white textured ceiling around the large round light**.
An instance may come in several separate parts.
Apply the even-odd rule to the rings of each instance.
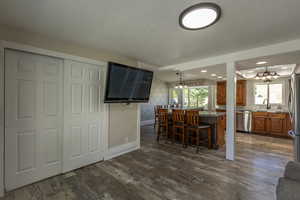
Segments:
[[[299,0],[212,0],[220,21],[187,31],[178,16],[199,0],[1,0],[0,23],[156,65],[298,38]]]

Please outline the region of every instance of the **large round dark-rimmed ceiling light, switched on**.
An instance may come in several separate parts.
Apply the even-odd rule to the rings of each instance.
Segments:
[[[179,24],[187,30],[200,30],[216,23],[221,17],[221,8],[215,3],[199,3],[188,7],[179,16]]]

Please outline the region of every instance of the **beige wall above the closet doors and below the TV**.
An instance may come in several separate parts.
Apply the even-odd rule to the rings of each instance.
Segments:
[[[60,52],[64,54],[90,58],[98,61],[114,61],[131,66],[137,66],[137,61],[127,57],[106,53],[97,49],[81,47],[76,44],[71,44],[64,41],[50,39],[34,33],[29,33],[21,30],[9,28],[0,25],[0,40],[16,42],[20,44],[30,45],[33,47]],[[3,64],[3,61],[1,61]],[[1,65],[0,65],[1,66]],[[0,76],[3,76],[2,68],[0,67]],[[0,84],[0,92],[2,83]],[[3,94],[3,91],[2,91]],[[2,96],[1,94],[1,96]],[[3,96],[2,96],[3,97]],[[3,192],[3,144],[4,144],[4,110],[0,100],[0,196]],[[120,155],[124,152],[139,148],[139,106],[131,106],[121,109],[120,105],[112,105],[108,110],[111,127],[121,125],[119,129],[108,129],[108,156],[106,159]],[[121,114],[122,112],[122,114]],[[126,116],[130,113],[130,117]],[[135,114],[134,114],[135,113]],[[109,124],[109,122],[107,122]],[[127,127],[122,129],[121,127]],[[135,136],[134,136],[135,135]],[[124,139],[124,138],[128,138]],[[131,143],[131,141],[134,141]],[[134,145],[132,145],[134,144]]]

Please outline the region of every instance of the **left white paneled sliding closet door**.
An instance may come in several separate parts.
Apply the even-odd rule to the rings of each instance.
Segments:
[[[63,61],[5,50],[5,186],[61,173]]]

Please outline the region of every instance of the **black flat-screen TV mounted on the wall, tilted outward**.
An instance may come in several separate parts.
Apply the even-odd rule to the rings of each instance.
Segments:
[[[153,72],[108,63],[105,103],[148,102]]]

